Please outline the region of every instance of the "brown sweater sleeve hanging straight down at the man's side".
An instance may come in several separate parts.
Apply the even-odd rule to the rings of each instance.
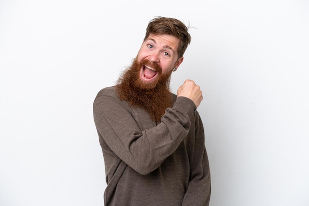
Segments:
[[[210,169],[204,142],[204,129],[197,111],[196,114],[193,166],[182,206],[208,206],[210,200]]]

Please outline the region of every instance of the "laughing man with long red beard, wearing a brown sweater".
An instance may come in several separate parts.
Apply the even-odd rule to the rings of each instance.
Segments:
[[[116,86],[94,100],[103,151],[106,206],[208,206],[210,170],[192,80],[169,91],[191,41],[179,20],[156,17]]]

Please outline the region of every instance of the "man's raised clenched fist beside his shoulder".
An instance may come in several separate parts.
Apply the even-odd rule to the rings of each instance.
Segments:
[[[202,91],[193,80],[187,79],[183,85],[177,90],[177,97],[187,97],[195,103],[196,107],[199,106],[203,100]]]

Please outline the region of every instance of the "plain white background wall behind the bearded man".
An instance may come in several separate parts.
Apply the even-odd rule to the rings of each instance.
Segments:
[[[0,0],[0,206],[102,206],[92,103],[154,16],[190,23],[211,206],[309,205],[308,0]],[[155,191],[154,191],[155,192]]]

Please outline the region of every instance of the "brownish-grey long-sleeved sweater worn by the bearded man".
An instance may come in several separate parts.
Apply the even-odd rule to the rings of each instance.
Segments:
[[[93,103],[103,151],[105,206],[208,206],[210,170],[196,106],[174,97],[161,122],[120,101],[115,87]]]

